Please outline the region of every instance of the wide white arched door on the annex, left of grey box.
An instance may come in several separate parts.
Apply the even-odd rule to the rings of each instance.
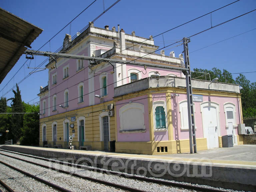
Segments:
[[[218,118],[217,110],[212,106],[203,107],[203,128],[204,136],[207,139],[207,147],[218,147]]]

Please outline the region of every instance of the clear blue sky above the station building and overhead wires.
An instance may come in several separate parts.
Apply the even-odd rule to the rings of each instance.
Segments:
[[[115,1],[97,0],[50,42],[48,41],[57,32],[82,12],[93,0],[0,0],[0,7],[44,30],[31,44],[33,50],[38,50],[48,42],[40,51],[54,52],[62,46],[65,34],[70,34],[71,32],[71,36],[74,36]],[[132,31],[135,31],[136,36],[149,38],[150,35],[156,36],[234,1],[121,0],[97,19],[94,22],[94,26],[104,28],[105,25],[109,25],[110,29],[113,26],[117,29],[117,25],[120,24],[120,29],[122,28],[125,33],[131,34]],[[166,47],[181,40],[183,37],[189,37],[254,9],[256,9],[255,0],[240,0],[212,13],[212,15],[206,15],[155,37],[155,45],[159,46],[159,48]],[[226,69],[230,73],[256,71],[254,58],[255,34],[256,11],[253,11],[191,37],[191,42],[188,44],[191,69],[211,70],[216,67],[220,70]],[[183,51],[183,45],[177,45],[164,48],[165,54],[169,55],[169,52],[174,51],[175,56],[178,57]],[[160,51],[157,53],[160,53]],[[33,69],[28,69],[27,67],[36,67],[47,59],[47,57],[43,56],[34,57],[34,60],[26,62],[25,55],[21,56],[0,84],[0,96],[4,96],[7,99],[13,97],[14,94],[11,90],[16,83],[19,83],[22,100],[25,103],[37,104],[39,101],[37,94],[40,92],[40,86],[45,87],[47,85],[48,71],[43,70],[29,75]],[[24,66],[22,67],[23,64]],[[42,67],[46,64],[47,62],[43,63]],[[19,68],[21,69],[19,70]],[[18,73],[14,75],[17,71]],[[244,73],[243,75],[251,83],[256,81],[255,72]],[[26,76],[28,77],[23,80]],[[237,76],[239,74],[233,74],[234,79]],[[23,81],[21,82],[21,80]],[[16,87],[14,89],[16,90]],[[10,105],[10,101],[8,105]]]

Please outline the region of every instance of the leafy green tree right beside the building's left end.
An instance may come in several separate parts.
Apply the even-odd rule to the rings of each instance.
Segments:
[[[39,145],[39,105],[29,105],[23,102],[26,113],[23,118],[22,136],[20,138],[21,145]]]

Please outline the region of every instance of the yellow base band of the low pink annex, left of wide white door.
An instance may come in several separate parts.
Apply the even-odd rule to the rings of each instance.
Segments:
[[[206,138],[196,139],[197,150],[206,150]],[[159,151],[159,152],[158,152]],[[116,142],[117,153],[164,155],[190,152],[189,139],[159,142]]]

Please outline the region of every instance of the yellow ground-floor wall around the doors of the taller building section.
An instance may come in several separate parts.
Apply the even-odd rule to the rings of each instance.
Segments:
[[[83,145],[90,145],[92,150],[104,150],[104,142],[100,141],[100,123],[99,115],[102,112],[107,111],[107,105],[113,103],[113,101],[105,102],[104,104],[94,105],[93,107],[85,107],[66,113],[61,113],[53,115],[46,118],[40,119],[40,136],[39,144],[40,147],[43,147],[43,127],[46,127],[46,141],[47,144],[51,144],[53,147],[53,124],[57,125],[57,141],[56,145],[62,145],[63,149],[66,149],[69,146],[67,141],[64,141],[66,137],[64,135],[64,121],[69,120],[69,125],[74,124],[74,128],[69,126],[69,135],[73,135],[72,145],[76,146],[76,149],[79,149],[78,141],[78,129],[79,125],[77,122],[78,118],[84,118],[84,136],[85,140]],[[71,121],[71,117],[75,117],[75,121]],[[110,141],[115,140],[115,117],[109,117],[109,128],[110,128]],[[108,148],[110,150],[110,143],[108,143]]]

